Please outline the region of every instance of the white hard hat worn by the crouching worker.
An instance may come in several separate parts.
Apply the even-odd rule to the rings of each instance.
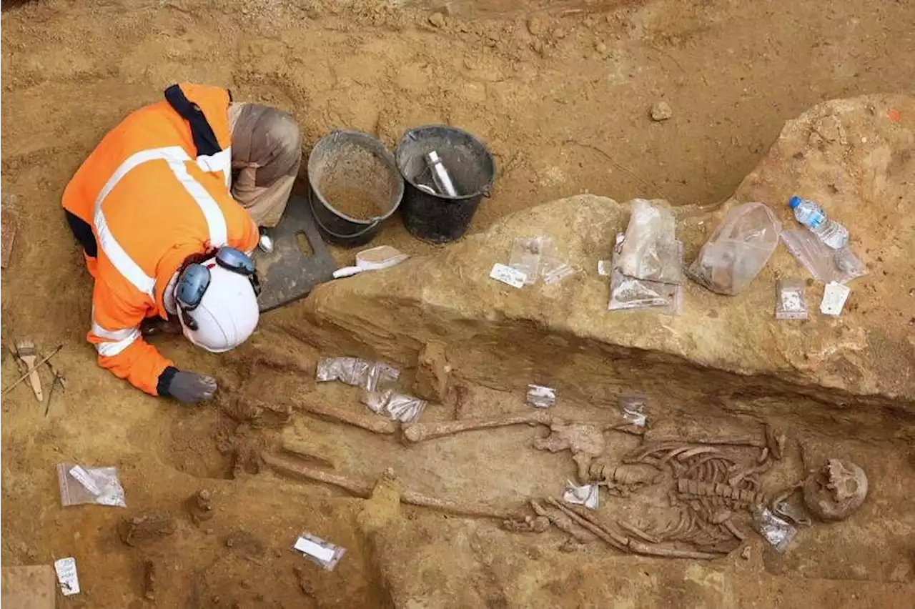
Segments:
[[[257,295],[247,276],[212,261],[204,265],[210,269],[210,285],[200,304],[186,314],[197,322],[197,329],[188,327],[184,315],[178,318],[190,342],[212,353],[222,353],[238,347],[251,336],[260,316]]]

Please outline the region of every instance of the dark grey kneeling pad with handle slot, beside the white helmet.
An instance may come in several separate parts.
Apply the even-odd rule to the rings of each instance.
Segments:
[[[283,218],[270,231],[270,236],[274,251],[254,254],[261,280],[258,304],[262,313],[304,298],[318,283],[332,279],[337,269],[305,197],[289,198]],[[303,237],[308,240],[310,254],[299,245]]]

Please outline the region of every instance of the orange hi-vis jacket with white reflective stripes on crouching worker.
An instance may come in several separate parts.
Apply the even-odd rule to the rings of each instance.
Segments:
[[[172,362],[139,326],[167,318],[172,276],[188,256],[223,245],[251,252],[258,240],[229,191],[229,91],[181,84],[166,98],[106,134],[63,194],[97,243],[98,258],[87,255],[95,278],[88,338],[99,365],[152,395]]]

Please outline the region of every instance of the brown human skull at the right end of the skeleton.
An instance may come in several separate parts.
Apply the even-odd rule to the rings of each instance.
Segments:
[[[840,459],[830,459],[803,483],[803,501],[822,520],[844,520],[867,497],[864,470]]]

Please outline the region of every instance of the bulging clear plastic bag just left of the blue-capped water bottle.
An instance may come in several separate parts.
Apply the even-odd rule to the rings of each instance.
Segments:
[[[740,294],[769,262],[780,231],[779,220],[766,205],[737,206],[705,241],[686,274],[716,294]]]

